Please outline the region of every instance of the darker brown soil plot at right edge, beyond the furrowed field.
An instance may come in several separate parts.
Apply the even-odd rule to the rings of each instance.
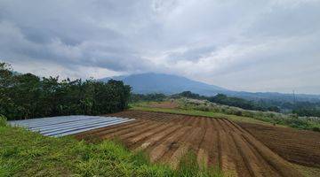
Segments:
[[[320,133],[251,123],[237,123],[270,150],[299,165],[320,167]]]

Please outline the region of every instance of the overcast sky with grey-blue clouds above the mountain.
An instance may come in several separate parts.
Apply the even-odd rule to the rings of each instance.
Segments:
[[[169,73],[320,94],[320,0],[0,0],[0,61],[20,73]]]

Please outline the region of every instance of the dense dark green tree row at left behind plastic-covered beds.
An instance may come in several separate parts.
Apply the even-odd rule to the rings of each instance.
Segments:
[[[16,73],[0,63],[0,115],[7,119],[119,112],[127,107],[130,92],[123,81],[60,81]]]

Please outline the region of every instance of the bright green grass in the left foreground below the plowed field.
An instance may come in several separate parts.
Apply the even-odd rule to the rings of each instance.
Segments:
[[[187,159],[195,167],[194,159]],[[184,166],[184,167],[183,167]],[[79,142],[52,138],[19,127],[0,126],[0,176],[222,176],[183,163],[177,170],[151,164],[143,152],[133,153],[120,142]],[[183,170],[181,170],[183,169]]]

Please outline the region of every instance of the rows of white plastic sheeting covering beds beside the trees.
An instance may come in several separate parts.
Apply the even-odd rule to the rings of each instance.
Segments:
[[[100,116],[59,116],[40,119],[23,119],[9,121],[12,126],[26,127],[42,135],[60,137],[74,135],[100,127],[108,127],[134,119],[100,117]]]

